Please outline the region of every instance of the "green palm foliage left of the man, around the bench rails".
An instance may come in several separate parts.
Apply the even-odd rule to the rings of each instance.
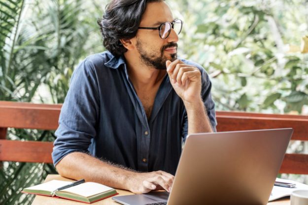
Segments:
[[[96,21],[102,13],[98,8],[85,0],[1,1],[0,100],[62,103],[79,60],[103,50],[98,47]],[[89,15],[90,11],[97,14]],[[54,141],[55,136],[49,131],[10,129],[8,139]],[[4,162],[0,204],[31,204],[33,196],[21,194],[22,188],[41,183],[52,173],[56,173],[52,164]]]

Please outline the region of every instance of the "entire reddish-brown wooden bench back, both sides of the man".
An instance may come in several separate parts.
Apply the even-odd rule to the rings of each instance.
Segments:
[[[52,163],[52,142],[6,140],[7,128],[55,130],[62,105],[0,101],[0,161]],[[292,140],[308,141],[308,116],[216,112],[217,131],[294,129]],[[286,154],[280,173],[308,174],[307,154]]]

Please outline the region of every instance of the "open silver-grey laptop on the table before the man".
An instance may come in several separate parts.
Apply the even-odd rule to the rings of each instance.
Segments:
[[[266,205],[292,128],[192,134],[170,194],[118,196],[122,205]]]

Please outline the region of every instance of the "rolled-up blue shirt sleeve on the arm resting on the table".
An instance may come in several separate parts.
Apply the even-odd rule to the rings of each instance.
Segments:
[[[68,94],[55,132],[52,159],[56,165],[71,152],[88,152],[96,136],[99,117],[99,91],[93,64],[85,59],[71,77]]]

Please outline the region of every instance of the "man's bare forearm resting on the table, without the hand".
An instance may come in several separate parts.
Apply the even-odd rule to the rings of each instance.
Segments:
[[[73,179],[84,178],[104,185],[128,189],[128,177],[133,172],[112,166],[86,153],[72,152],[65,156],[56,168],[61,176]]]

